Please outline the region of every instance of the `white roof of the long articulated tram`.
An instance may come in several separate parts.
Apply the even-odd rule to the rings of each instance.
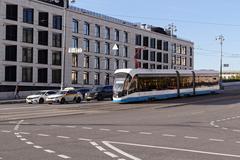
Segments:
[[[219,74],[218,71],[215,70],[174,70],[174,69],[168,69],[168,70],[158,70],[158,69],[118,69],[114,72],[114,74],[117,73],[128,73],[131,76],[136,74],[176,74],[176,71],[178,71],[180,74],[192,74],[194,73],[196,75],[217,75]]]

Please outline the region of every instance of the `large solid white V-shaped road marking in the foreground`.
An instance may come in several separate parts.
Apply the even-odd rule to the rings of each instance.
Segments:
[[[225,154],[225,153],[217,153],[217,152],[206,152],[206,151],[199,151],[199,150],[191,150],[191,149],[183,149],[183,148],[171,148],[171,147],[163,147],[163,146],[151,146],[151,145],[143,145],[143,144],[134,144],[134,143],[124,143],[124,142],[111,142],[111,141],[103,141],[103,144],[108,146],[109,148],[113,149],[114,151],[132,159],[132,160],[141,160],[137,157],[134,157],[126,152],[123,152],[122,150],[116,148],[112,144],[122,144],[122,145],[128,145],[128,146],[137,146],[137,147],[147,147],[147,148],[157,148],[157,149],[164,149],[164,150],[173,150],[173,151],[182,151],[182,152],[190,152],[190,153],[200,153],[200,154],[207,154],[207,155],[217,155],[217,156],[223,156],[223,157],[234,157],[234,158],[240,158],[240,155],[234,155],[234,154]]]

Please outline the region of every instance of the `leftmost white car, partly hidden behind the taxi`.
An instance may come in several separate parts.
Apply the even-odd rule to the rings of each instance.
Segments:
[[[28,104],[31,104],[31,103],[39,103],[39,104],[45,103],[47,96],[55,94],[55,93],[56,93],[56,91],[52,91],[52,90],[37,92],[33,95],[27,96],[26,103],[28,103]]]

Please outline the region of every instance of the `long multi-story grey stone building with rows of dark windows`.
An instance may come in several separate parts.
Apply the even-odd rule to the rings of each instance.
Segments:
[[[193,42],[160,27],[68,7],[64,0],[1,0],[0,61],[3,98],[16,85],[28,91],[56,89],[61,82],[112,84],[118,68],[193,69]]]

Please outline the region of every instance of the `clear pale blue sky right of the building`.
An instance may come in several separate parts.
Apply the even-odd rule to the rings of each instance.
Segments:
[[[130,22],[165,27],[177,26],[177,36],[195,44],[195,69],[220,66],[220,43],[223,34],[224,70],[240,70],[240,1],[239,0],[76,0],[77,7]]]

